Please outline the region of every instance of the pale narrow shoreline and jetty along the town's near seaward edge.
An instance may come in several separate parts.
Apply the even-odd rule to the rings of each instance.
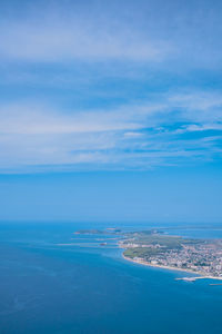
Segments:
[[[125,261],[129,262],[133,262],[135,264],[140,264],[140,265],[144,265],[144,266],[149,266],[149,267],[155,267],[155,268],[161,268],[161,269],[167,269],[167,271],[176,271],[176,272],[183,272],[183,273],[190,273],[190,274],[196,274],[199,275],[198,277],[183,277],[183,278],[178,278],[178,279],[184,279],[185,278],[191,278],[190,281],[195,281],[195,279],[216,279],[216,281],[222,281],[222,277],[215,277],[215,276],[205,276],[200,272],[193,272],[191,269],[182,269],[182,268],[175,268],[175,267],[171,267],[171,266],[162,266],[162,265],[154,265],[154,264],[150,264],[143,259],[133,259],[130,257],[127,257],[123,253],[122,253],[122,257]],[[193,279],[192,279],[193,278]],[[175,278],[176,279],[176,278]],[[189,281],[189,279],[188,279]]]

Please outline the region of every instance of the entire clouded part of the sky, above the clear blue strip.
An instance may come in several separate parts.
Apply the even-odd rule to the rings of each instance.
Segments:
[[[221,12],[205,1],[2,7],[0,169],[221,157]]]

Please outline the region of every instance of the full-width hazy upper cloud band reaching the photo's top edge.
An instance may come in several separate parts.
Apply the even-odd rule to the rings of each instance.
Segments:
[[[221,67],[221,7],[178,1],[39,2],[4,12],[0,57],[10,61],[164,62]],[[161,9],[161,10],[160,10]],[[13,12],[13,11],[12,11]],[[170,18],[170,19],[169,19]],[[173,62],[172,62],[173,61]]]

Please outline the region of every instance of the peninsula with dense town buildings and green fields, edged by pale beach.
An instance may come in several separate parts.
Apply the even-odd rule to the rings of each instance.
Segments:
[[[195,239],[157,230],[133,232],[120,240],[123,257],[139,264],[222,279],[222,239]]]

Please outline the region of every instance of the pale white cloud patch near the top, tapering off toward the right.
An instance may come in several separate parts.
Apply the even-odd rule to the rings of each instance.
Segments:
[[[98,27],[93,21],[79,20],[39,22],[2,22],[0,26],[1,58],[28,61],[63,62],[72,60],[159,61],[170,43],[144,38],[124,24]]]

